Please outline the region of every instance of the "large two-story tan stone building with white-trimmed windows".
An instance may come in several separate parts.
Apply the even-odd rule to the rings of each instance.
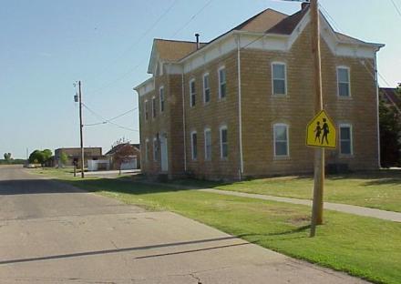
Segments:
[[[326,163],[379,167],[376,52],[321,17],[324,108],[338,127]],[[145,174],[238,179],[312,172],[308,5],[267,9],[209,43],[155,39],[139,93]]]

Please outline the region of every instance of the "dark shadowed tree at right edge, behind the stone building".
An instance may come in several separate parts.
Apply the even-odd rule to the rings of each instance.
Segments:
[[[397,93],[401,96],[401,85]],[[401,165],[401,114],[396,106],[387,106],[383,100],[379,104],[379,114],[382,167],[398,167]]]

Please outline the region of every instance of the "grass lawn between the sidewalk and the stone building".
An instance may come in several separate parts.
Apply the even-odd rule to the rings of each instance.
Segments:
[[[181,185],[257,193],[285,198],[312,199],[313,177],[271,177],[224,184],[183,180]],[[401,212],[401,171],[381,170],[328,176],[324,201]]]

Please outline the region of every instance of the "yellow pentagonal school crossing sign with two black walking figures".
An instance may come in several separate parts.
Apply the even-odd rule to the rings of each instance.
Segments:
[[[335,148],[337,135],[334,123],[322,110],[306,128],[306,145],[312,147]]]

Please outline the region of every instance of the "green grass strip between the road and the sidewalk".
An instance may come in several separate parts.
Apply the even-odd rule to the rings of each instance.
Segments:
[[[311,209],[304,206],[150,186],[127,178],[81,180],[66,173],[57,178],[129,204],[177,212],[264,248],[375,283],[401,283],[401,224],[396,222],[325,211],[324,226],[316,238],[308,238]]]

